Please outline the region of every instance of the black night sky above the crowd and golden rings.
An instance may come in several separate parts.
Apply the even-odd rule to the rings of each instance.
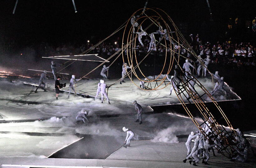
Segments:
[[[85,40],[91,35],[104,38],[126,21],[134,11],[143,8],[146,0],[16,0],[0,2],[0,37],[16,38],[24,45],[39,41],[60,42]],[[256,16],[255,1],[209,0],[213,19],[226,22],[229,17],[252,20]],[[196,33],[202,21],[209,21],[209,9],[205,0],[148,1],[147,7],[166,11],[175,22],[188,22],[191,32]],[[216,25],[214,22],[214,25]],[[224,25],[225,26],[225,25]],[[220,27],[221,29],[221,27]]]

